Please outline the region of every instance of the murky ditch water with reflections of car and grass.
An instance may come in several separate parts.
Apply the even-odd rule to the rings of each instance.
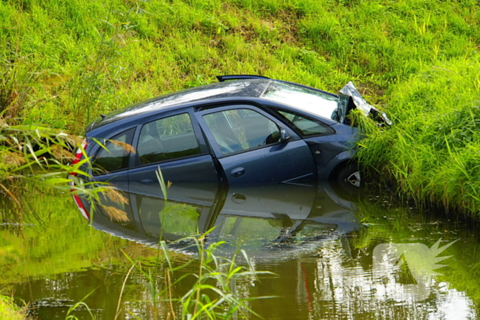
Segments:
[[[173,273],[180,277],[197,272],[199,261],[178,239],[212,228],[206,245],[225,241],[218,256],[244,249],[256,270],[275,273],[235,284],[241,298],[275,296],[247,303],[264,319],[479,317],[477,227],[394,205],[387,194],[345,195],[326,183],[178,184],[166,203],[159,190],[138,188],[125,193],[125,204],[102,199],[95,210],[88,206],[92,228],[69,195],[29,184],[18,188],[22,208],[1,202],[0,286],[29,303],[38,319],[65,319],[79,301],[95,319],[117,313],[117,319],[167,319],[169,304],[158,301],[154,308],[145,275],[133,269],[125,280],[132,265],[125,255],[149,270],[161,291],[167,263],[159,238],[169,243],[176,265],[192,261]],[[112,208],[128,219],[112,219]],[[451,257],[435,258],[442,256]],[[435,269],[438,264],[445,267]],[[173,296],[192,284],[187,276],[173,286]],[[180,314],[180,306],[173,308]],[[84,306],[70,312],[91,319]]]

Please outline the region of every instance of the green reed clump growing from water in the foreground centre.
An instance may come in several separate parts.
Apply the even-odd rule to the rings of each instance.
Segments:
[[[165,210],[169,210],[167,206],[168,188],[170,183],[163,178],[160,167],[156,171],[158,183],[165,199],[165,206],[159,214],[163,214]],[[132,260],[127,254],[125,257],[130,260],[132,267],[130,267],[123,287],[130,275],[132,269],[136,269],[145,277],[149,284],[149,295],[151,299],[152,317],[158,317],[158,305],[163,303],[163,308],[167,308],[167,319],[239,319],[248,318],[250,315],[256,313],[249,308],[248,302],[252,299],[264,299],[268,297],[239,297],[237,294],[237,282],[241,278],[252,278],[259,281],[259,275],[272,275],[271,272],[257,271],[254,264],[248,258],[244,250],[239,251],[243,258],[243,264],[237,264],[237,254],[232,258],[224,258],[217,256],[215,251],[224,242],[219,241],[206,245],[206,239],[212,230],[208,230],[204,234],[197,236],[189,236],[178,241],[182,243],[182,251],[195,252],[198,264],[197,269],[193,270],[191,263],[193,260],[187,262],[178,262],[171,256],[169,246],[165,241],[160,240],[158,244],[158,258],[160,258],[160,250],[163,262],[167,265],[163,270],[165,273],[159,277],[152,268],[145,268],[141,262]],[[158,269],[158,263],[162,263],[159,259],[155,266]],[[163,278],[163,285],[158,286],[159,278]],[[174,286],[184,279],[193,278],[193,283],[189,286],[186,293],[178,293],[174,291]],[[122,288],[123,292],[123,288]],[[176,295],[177,294],[177,295]],[[117,308],[117,316],[120,314],[121,296],[119,299],[119,307]],[[132,315],[136,317],[135,315]],[[138,318],[137,318],[138,319]]]

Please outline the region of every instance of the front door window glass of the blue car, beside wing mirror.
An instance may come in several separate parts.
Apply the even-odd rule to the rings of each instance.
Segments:
[[[226,110],[203,119],[224,155],[280,141],[276,123],[254,110]]]

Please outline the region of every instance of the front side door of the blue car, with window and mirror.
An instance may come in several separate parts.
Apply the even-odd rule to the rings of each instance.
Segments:
[[[195,116],[230,186],[315,179],[307,144],[259,108],[227,106]]]

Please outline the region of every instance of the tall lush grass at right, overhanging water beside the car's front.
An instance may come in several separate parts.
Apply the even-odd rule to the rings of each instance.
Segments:
[[[400,190],[480,214],[480,60],[424,67],[392,87],[395,124],[361,141],[359,158]]]

